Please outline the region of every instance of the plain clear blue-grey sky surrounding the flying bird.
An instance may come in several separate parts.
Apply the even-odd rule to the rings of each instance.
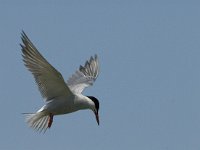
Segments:
[[[0,1],[0,149],[199,150],[200,3],[194,1]],[[23,112],[44,101],[24,67],[24,30],[65,80],[98,54],[84,91],[100,101],[55,117],[45,134]]]

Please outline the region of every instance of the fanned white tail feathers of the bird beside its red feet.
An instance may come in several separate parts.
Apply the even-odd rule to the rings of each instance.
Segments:
[[[45,132],[49,128],[49,116],[43,112],[26,113],[25,120],[28,126],[36,131]]]

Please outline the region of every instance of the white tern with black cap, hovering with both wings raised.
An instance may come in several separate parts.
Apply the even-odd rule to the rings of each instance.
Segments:
[[[72,113],[90,109],[99,125],[99,101],[93,96],[84,96],[82,91],[93,85],[99,74],[97,55],[86,61],[67,80],[39,53],[37,48],[22,31],[22,56],[25,66],[33,74],[45,105],[36,113],[26,113],[29,127],[37,131],[46,131],[51,127],[54,115]]]

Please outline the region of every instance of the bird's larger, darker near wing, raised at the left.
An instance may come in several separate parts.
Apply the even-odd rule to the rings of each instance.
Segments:
[[[47,62],[24,32],[21,34],[21,39],[24,64],[33,74],[43,98],[48,101],[71,94],[60,72]]]

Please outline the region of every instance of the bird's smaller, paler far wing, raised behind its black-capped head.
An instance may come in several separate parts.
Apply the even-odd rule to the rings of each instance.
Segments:
[[[98,57],[95,55],[84,66],[80,66],[67,81],[67,85],[74,93],[81,93],[86,87],[93,85],[99,74]]]

